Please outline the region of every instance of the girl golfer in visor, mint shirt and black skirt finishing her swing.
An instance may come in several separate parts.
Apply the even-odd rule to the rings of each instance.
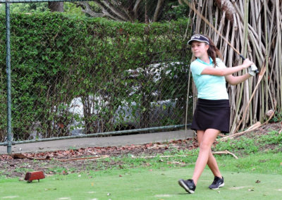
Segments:
[[[181,179],[178,183],[186,192],[194,193],[199,177],[206,165],[214,174],[214,182],[209,185],[209,189],[219,189],[224,185],[223,176],[219,171],[211,147],[220,132],[229,132],[230,105],[226,81],[231,85],[237,85],[247,80],[252,73],[237,77],[232,74],[248,68],[253,63],[245,59],[242,65],[226,68],[226,65],[220,59],[219,49],[216,48],[209,37],[204,35],[193,35],[188,44],[196,58],[191,63],[190,70],[198,92],[191,129],[197,131],[200,151],[192,179]]]

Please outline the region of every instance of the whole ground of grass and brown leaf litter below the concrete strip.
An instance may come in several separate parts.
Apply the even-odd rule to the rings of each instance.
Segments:
[[[215,142],[213,151],[228,150],[238,156],[235,159],[230,154],[216,154],[226,186],[218,191],[207,189],[213,177],[209,170],[204,170],[197,192],[189,198],[279,199],[282,194],[280,130],[281,122],[270,123],[235,139]],[[195,139],[1,155],[0,197],[187,199],[177,181],[192,174],[196,159]],[[32,170],[44,170],[46,178],[26,183],[24,175]],[[30,190],[33,192],[25,192]]]

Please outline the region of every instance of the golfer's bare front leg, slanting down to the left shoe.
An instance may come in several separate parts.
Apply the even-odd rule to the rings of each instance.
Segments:
[[[200,135],[202,135],[202,137],[200,136],[201,137],[200,151],[195,165],[195,170],[192,176],[192,180],[194,180],[195,185],[197,185],[197,181],[200,175],[202,175],[202,172],[209,161],[209,157],[212,156],[211,147],[217,135],[219,135],[219,130],[207,129],[204,131],[204,134],[200,133]],[[213,170],[215,169],[215,173],[218,173],[216,172],[216,168],[218,169],[218,166],[217,164],[215,165],[214,162],[216,162],[215,158],[211,158],[210,164],[212,166],[212,169]]]

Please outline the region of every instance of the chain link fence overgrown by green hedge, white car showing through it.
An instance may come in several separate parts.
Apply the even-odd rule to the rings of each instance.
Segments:
[[[4,142],[6,20],[5,4],[0,5]],[[11,10],[13,140],[183,125],[191,58],[188,20],[133,23],[86,15]]]

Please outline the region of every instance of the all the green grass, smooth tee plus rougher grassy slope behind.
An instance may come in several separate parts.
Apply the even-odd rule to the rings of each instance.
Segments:
[[[154,158],[133,158],[128,154],[97,160],[94,167],[89,161],[80,174],[72,173],[75,168],[58,167],[54,161],[49,170],[56,175],[40,182],[1,176],[0,199],[281,199],[281,142],[282,135],[271,131],[216,144],[214,151],[228,150],[239,157],[215,155],[226,182],[216,191],[208,189],[213,180],[208,168],[195,194],[187,194],[179,187],[180,178],[192,176],[198,149],[172,147]],[[62,175],[65,170],[68,175]]]

